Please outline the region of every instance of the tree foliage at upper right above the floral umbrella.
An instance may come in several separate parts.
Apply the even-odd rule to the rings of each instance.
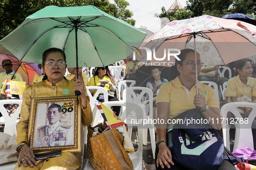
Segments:
[[[231,13],[243,13],[254,16],[256,0],[188,0],[185,9],[178,6],[172,11],[162,7],[162,13],[155,14],[159,18],[169,18],[170,21],[188,19],[196,16],[211,15],[221,17]]]

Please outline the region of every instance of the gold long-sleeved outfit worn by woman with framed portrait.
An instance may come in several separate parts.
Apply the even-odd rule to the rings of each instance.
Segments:
[[[65,89],[69,90],[68,94],[63,94]],[[20,142],[28,142],[27,133],[29,126],[29,114],[31,107],[31,98],[40,98],[40,97],[55,97],[55,96],[72,96],[75,95],[75,82],[63,79],[61,82],[56,83],[55,86],[52,86],[51,82],[48,80],[38,82],[36,84],[26,85],[23,91],[23,101],[20,112],[20,120],[18,123],[17,129],[17,144]],[[93,116],[91,112],[91,106],[89,97],[87,98],[87,108],[81,108],[81,122],[85,126],[89,126],[92,122]],[[49,159],[37,161],[37,166],[24,167],[22,164],[21,167],[16,164],[15,170],[80,170],[81,169],[81,152],[70,153],[62,152],[60,157],[53,157]]]

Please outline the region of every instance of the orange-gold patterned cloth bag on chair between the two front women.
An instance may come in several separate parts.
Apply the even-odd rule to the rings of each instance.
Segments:
[[[96,170],[133,170],[133,163],[123,148],[123,135],[107,128],[102,123],[88,126],[87,158],[91,165]]]

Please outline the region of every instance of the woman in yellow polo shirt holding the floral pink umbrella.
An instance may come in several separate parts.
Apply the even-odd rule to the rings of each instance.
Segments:
[[[184,49],[178,57],[180,61],[176,59],[175,66],[171,69],[172,81],[161,86],[156,98],[158,118],[165,120],[165,123],[158,124],[156,129],[158,140],[156,170],[190,170],[172,160],[172,153],[165,142],[167,140],[167,119],[172,119],[179,113],[194,109],[196,106],[201,108],[207,120],[212,118],[220,120],[222,117],[217,97],[211,87],[198,82],[199,94],[196,94],[195,64],[197,63],[198,66],[198,75],[202,65],[198,54],[197,61],[195,61],[194,50]],[[221,124],[217,124],[217,121],[210,125],[214,129],[221,128]],[[229,161],[223,161],[220,169],[235,168]]]

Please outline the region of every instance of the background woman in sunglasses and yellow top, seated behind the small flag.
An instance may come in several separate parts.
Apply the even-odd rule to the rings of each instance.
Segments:
[[[113,78],[113,75],[111,74],[110,70],[108,69],[108,66],[106,67],[96,67],[94,72],[94,76],[91,77],[89,81],[89,86],[101,86],[107,89],[108,93],[108,101],[119,101],[117,97],[114,96],[114,93],[116,92],[116,86],[115,79]],[[90,89],[89,90],[93,96],[96,93],[96,90]],[[113,92],[113,93],[111,93]],[[102,95],[103,96],[103,95]],[[104,102],[104,98],[102,96],[98,96],[97,100],[100,102]],[[120,106],[113,106],[113,111],[116,112],[116,115],[118,116],[120,113]]]

